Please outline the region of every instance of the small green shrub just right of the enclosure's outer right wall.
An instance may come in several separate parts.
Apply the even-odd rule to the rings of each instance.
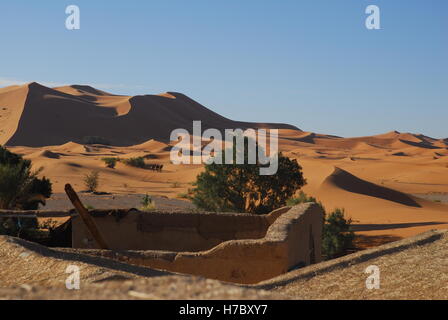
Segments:
[[[325,218],[322,230],[322,254],[332,259],[347,253],[353,247],[355,234],[351,219],[346,219],[344,209],[335,209]]]

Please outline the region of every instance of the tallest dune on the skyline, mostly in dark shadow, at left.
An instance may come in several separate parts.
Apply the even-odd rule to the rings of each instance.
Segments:
[[[102,144],[132,146],[149,139],[169,141],[174,129],[192,131],[194,120],[201,120],[203,129],[241,127],[298,131],[285,124],[233,121],[183,94],[168,94],[169,97],[123,97],[88,86],[51,89],[38,83],[3,89],[0,106],[13,111],[1,114],[8,127],[3,129],[0,144],[42,147],[98,140]]]

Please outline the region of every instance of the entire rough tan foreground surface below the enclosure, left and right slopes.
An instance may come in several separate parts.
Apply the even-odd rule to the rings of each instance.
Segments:
[[[68,290],[67,267],[80,270]],[[366,269],[378,267],[368,289]],[[0,236],[0,299],[448,299],[448,231],[424,234],[239,286]]]

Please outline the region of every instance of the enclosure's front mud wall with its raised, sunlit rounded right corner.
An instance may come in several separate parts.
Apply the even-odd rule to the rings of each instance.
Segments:
[[[218,215],[222,217],[217,218]],[[226,218],[229,219],[227,220],[229,230],[235,230],[230,225],[236,224],[234,228],[239,229],[238,219],[246,217],[218,215],[212,217],[222,219],[218,220],[222,230],[225,229],[222,225],[225,225]],[[221,242],[209,250],[199,252],[87,250],[87,253],[140,266],[244,284],[254,284],[322,260],[323,212],[318,205],[308,203],[282,208],[267,216],[251,217],[253,218],[251,221],[265,220],[269,223],[264,236],[262,235],[264,223],[259,222],[258,226],[262,226],[259,232],[249,227],[250,223],[247,225],[243,223],[242,226],[246,225],[242,227],[246,232],[245,237],[235,237],[227,241],[220,239]],[[224,235],[227,237],[228,233],[222,232],[221,238],[224,238]],[[249,238],[249,235],[255,235],[257,238]]]

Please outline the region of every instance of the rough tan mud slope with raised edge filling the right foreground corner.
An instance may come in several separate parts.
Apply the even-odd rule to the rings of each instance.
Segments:
[[[423,243],[416,241],[419,238]],[[366,271],[369,266],[378,267],[378,289],[366,286],[372,275]],[[271,282],[273,292],[300,300],[446,300],[448,232],[430,231],[370,252],[366,250],[291,272]]]

